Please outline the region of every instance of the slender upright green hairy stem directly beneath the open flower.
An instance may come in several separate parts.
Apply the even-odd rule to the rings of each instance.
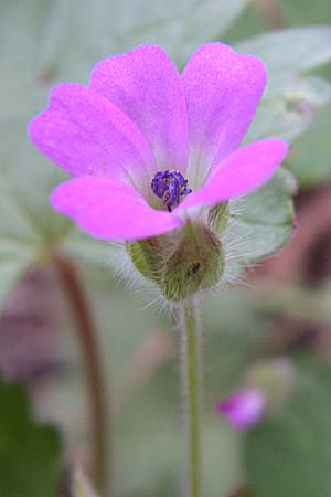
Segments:
[[[181,309],[182,396],[184,403],[188,497],[201,497],[201,377],[197,300],[186,302]]]

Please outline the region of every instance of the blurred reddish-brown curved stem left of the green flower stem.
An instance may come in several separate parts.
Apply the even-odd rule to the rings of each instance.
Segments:
[[[97,330],[93,321],[87,296],[74,264],[53,255],[53,265],[62,282],[76,321],[77,339],[85,367],[90,419],[92,475],[98,493],[104,496],[109,485],[109,404],[97,346]]]

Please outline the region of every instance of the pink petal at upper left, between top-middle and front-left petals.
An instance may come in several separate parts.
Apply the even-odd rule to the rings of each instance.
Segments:
[[[107,176],[148,181],[154,158],[137,126],[107,98],[90,88],[64,83],[50,106],[30,123],[32,141],[70,175]]]

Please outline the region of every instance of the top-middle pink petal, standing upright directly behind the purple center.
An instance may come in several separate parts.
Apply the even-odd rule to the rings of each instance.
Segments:
[[[105,59],[94,68],[90,87],[137,124],[159,169],[185,169],[186,104],[177,67],[161,47],[141,45]]]

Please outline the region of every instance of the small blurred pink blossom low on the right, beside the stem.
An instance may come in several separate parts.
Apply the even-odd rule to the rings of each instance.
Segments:
[[[258,423],[264,414],[266,398],[259,389],[245,389],[232,393],[217,405],[217,413],[237,430]]]

